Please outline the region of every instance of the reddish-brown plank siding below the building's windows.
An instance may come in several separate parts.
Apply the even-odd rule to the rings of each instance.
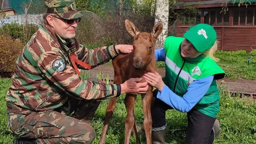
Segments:
[[[182,37],[188,26],[177,26],[176,36]],[[218,49],[227,51],[256,50],[256,28],[214,27],[219,41]]]

